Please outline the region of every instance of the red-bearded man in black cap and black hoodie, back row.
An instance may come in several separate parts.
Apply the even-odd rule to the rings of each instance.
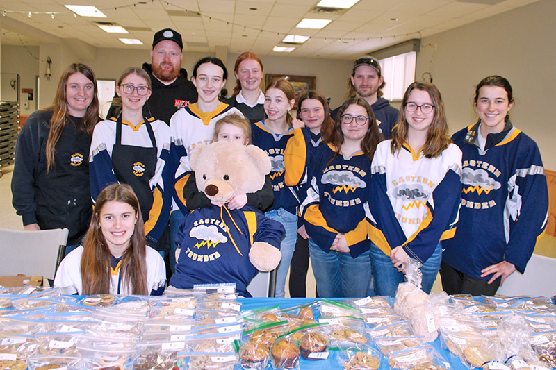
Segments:
[[[187,79],[187,71],[181,68],[183,58],[181,35],[171,28],[154,34],[151,62],[143,63],[143,69],[151,76],[152,94],[143,112],[170,125],[170,117],[181,107],[197,101],[197,90]],[[113,106],[107,117],[113,115]]]

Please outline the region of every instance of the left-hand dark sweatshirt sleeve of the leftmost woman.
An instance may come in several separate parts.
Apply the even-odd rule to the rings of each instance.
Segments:
[[[39,115],[27,119],[15,145],[15,164],[12,174],[12,203],[24,226],[37,223],[35,211],[35,176],[38,174],[40,153],[46,146],[48,131],[40,135],[44,125]],[[44,159],[44,161],[46,161]]]

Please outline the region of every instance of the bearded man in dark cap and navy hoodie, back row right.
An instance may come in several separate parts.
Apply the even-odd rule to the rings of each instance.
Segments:
[[[398,110],[382,97],[384,85],[378,60],[372,56],[362,56],[353,62],[353,72],[347,80],[346,96],[365,99],[375,112],[382,135],[385,139],[389,139],[392,137],[392,128],[398,121]],[[340,107],[332,111],[332,119],[336,119],[339,109]]]

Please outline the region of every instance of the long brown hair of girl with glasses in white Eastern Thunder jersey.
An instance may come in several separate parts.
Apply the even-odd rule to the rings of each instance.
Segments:
[[[444,103],[439,89],[430,82],[416,81],[411,83],[407,90],[405,90],[404,98],[402,99],[402,106],[400,115],[398,115],[398,124],[392,131],[392,154],[400,151],[404,142],[407,142],[407,121],[405,119],[405,105],[409,99],[409,94],[413,90],[422,90],[429,93],[432,105],[434,106],[434,117],[429,126],[427,133],[427,141],[423,146],[423,155],[425,158],[436,158],[448,148],[448,144],[452,142],[450,135],[448,135],[448,120],[444,111]]]

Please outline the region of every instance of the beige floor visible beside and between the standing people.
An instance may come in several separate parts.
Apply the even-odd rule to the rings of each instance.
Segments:
[[[9,228],[14,230],[23,230],[21,218],[15,214],[12,206],[12,191],[11,180],[13,165],[3,167],[3,176],[0,177],[0,227]],[[539,255],[546,255],[547,257],[556,258],[556,238],[550,235],[543,235],[537,244],[534,251]],[[288,279],[286,279],[286,282]],[[309,273],[307,274],[306,291],[308,297],[315,296],[315,279],[313,277],[313,270],[309,266]],[[432,287],[432,292],[441,292],[442,285],[440,276],[436,278],[436,282]],[[286,283],[286,297],[289,297],[288,284]]]

